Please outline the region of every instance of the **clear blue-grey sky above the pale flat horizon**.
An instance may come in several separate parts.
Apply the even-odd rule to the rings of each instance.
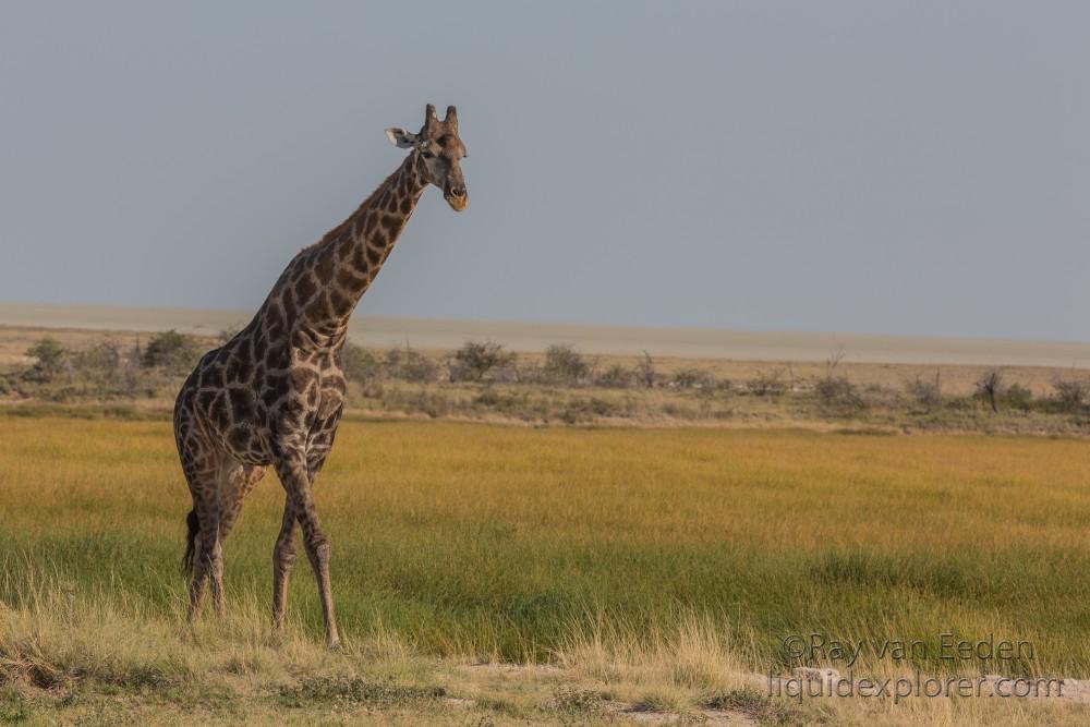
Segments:
[[[375,315],[1090,340],[1085,2],[14,2],[0,300],[254,307],[457,104]]]

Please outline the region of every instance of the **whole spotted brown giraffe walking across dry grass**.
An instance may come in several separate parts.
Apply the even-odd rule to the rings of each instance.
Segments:
[[[292,258],[253,320],[206,353],[178,395],[174,440],[193,498],[183,558],[192,574],[191,623],[201,615],[209,582],[216,615],[222,615],[223,542],[246,495],[271,467],[286,493],[272,550],[274,629],[283,626],[301,529],[322,599],[326,643],[340,643],[329,538],[313,488],[344,405],[339,359],[348,320],[428,184],[440,189],[456,211],[469,201],[455,107],[439,121],[428,104],[419,133],[395,128],[386,135],[410,150],[397,171],[348,219]]]

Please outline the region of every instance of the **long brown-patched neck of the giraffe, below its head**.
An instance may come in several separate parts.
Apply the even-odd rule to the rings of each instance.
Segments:
[[[413,152],[359,209],[300,255],[304,271],[295,272],[292,289],[303,327],[343,334],[426,186],[423,159]]]

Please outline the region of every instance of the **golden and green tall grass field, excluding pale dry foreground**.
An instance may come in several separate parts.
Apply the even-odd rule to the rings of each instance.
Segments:
[[[22,644],[25,661],[44,644],[61,659],[44,674],[90,668],[48,641],[73,632],[63,617],[26,620],[64,613],[65,593],[90,604],[81,618],[107,603],[96,618],[118,633],[177,639],[189,495],[169,424],[0,420],[0,443],[4,649]],[[342,630],[356,644],[584,663],[594,650],[617,662],[674,649],[652,662],[687,669],[711,663],[686,655],[711,634],[730,669],[763,670],[797,663],[783,646],[790,634],[919,639],[934,653],[954,632],[1032,642],[1034,658],[1008,671],[1085,677],[1086,455],[1082,441],[1013,437],[348,422],[316,499]],[[258,661],[282,499],[271,474],[251,495],[226,546],[229,626],[206,617],[197,630],[249,634]],[[304,559],[289,603],[292,628],[317,643]],[[695,625],[688,642],[663,638],[685,623]],[[119,657],[137,664],[132,674],[90,643],[73,649],[114,681],[197,668],[171,662],[166,641],[165,662]]]

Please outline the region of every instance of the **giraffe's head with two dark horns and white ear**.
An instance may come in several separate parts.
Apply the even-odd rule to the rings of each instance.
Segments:
[[[458,136],[458,111],[455,107],[448,106],[446,118],[439,121],[435,107],[428,104],[420,133],[395,128],[387,129],[386,136],[398,148],[412,149],[413,154],[420,155],[427,181],[443,190],[443,198],[451,209],[458,213],[465,209],[469,204],[465,178],[462,175],[465,145]]]

